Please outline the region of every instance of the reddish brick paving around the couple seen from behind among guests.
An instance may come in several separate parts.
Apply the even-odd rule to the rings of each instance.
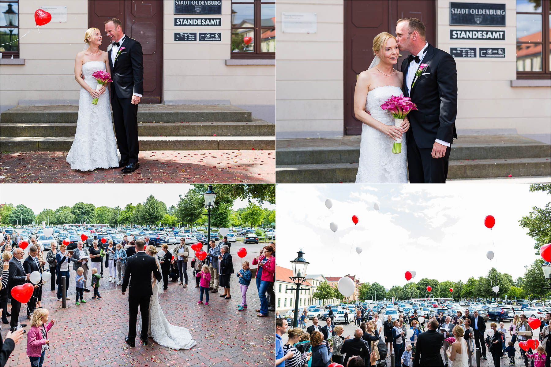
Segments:
[[[251,261],[252,256],[246,260]],[[234,257],[234,269],[241,259]],[[248,259],[248,258],[251,259]],[[210,293],[208,306],[197,305],[199,288],[195,288],[192,271],[187,268],[188,287],[177,286],[169,281],[169,289],[160,294],[160,304],[171,324],[188,328],[197,342],[187,350],[168,349],[149,339],[149,346],[136,348],[125,343],[128,330],[128,293],[122,295],[116,283],[109,283],[109,270],[104,269],[98,301],[91,300],[93,292],[85,292],[87,303],[74,304],[74,278],[69,281],[67,309],[57,301],[57,291],[51,292],[49,284],[42,291],[42,306],[50,310],[50,319],[56,324],[48,332],[50,349],[47,350],[44,366],[250,366],[274,365],[274,324],[272,317],[257,317],[260,307],[257,289],[251,282],[247,292],[246,311],[237,311],[241,302],[237,277],[231,277],[231,299]],[[71,270],[74,277],[74,271]],[[8,306],[8,309],[10,307]],[[271,314],[271,316],[274,314]],[[22,308],[19,320],[26,321]],[[30,324],[25,330],[29,330]],[[3,325],[2,336],[8,332]],[[139,336],[139,330],[137,332]],[[26,337],[8,359],[8,366],[28,366]]]

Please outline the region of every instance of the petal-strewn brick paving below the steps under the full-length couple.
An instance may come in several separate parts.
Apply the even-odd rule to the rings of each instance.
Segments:
[[[140,168],[73,171],[67,152],[0,155],[0,183],[274,183],[273,150],[140,151]]]

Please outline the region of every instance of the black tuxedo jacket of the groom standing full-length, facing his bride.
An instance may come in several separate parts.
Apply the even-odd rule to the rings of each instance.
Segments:
[[[130,98],[132,94],[143,95],[143,54],[142,45],[125,35],[122,40],[122,50],[113,64],[111,48],[107,47],[109,65],[111,67],[111,96],[115,93],[118,98]]]

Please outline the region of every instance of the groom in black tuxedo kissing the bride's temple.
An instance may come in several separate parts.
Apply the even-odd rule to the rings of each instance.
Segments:
[[[401,51],[412,53],[402,62],[401,71],[404,96],[410,97],[418,108],[408,114],[411,126],[406,133],[409,182],[446,183],[451,143],[453,138],[457,139],[455,60],[449,53],[425,41],[425,25],[417,18],[397,21],[396,42]],[[415,73],[420,64],[428,66],[417,78]]]

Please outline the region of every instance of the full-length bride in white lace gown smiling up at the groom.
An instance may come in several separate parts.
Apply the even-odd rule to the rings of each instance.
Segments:
[[[88,46],[77,53],[74,61],[74,78],[80,84],[78,102],[77,132],[67,162],[71,169],[94,171],[95,168],[118,167],[117,142],[111,122],[109,90],[105,85],[96,91],[98,82],[92,74],[98,70],[109,70],[107,52],[101,51],[101,33],[90,28],[84,34],[84,43]],[[84,76],[84,79],[80,75]],[[92,100],[98,98],[98,104]]]

